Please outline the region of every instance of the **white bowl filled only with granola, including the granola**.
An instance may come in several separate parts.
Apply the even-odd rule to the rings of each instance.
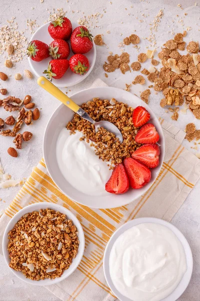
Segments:
[[[53,203],[36,203],[17,212],[2,240],[4,259],[21,280],[50,285],[67,278],[84,252],[84,233],[69,210]]]

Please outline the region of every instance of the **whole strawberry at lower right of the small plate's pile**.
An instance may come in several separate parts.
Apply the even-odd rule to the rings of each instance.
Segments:
[[[69,60],[69,68],[73,73],[84,75],[89,67],[89,62],[83,54],[74,54]]]

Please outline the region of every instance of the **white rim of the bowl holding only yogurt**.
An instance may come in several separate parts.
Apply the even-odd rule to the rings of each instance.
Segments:
[[[103,254],[103,272],[104,276],[106,279],[106,282],[110,288],[110,290],[114,293],[114,295],[120,300],[120,301],[131,301],[131,299],[123,296],[117,288],[115,288],[114,284],[112,283],[110,274],[109,274],[109,254],[110,250],[113,246],[113,243],[116,241],[116,239],[126,230],[130,229],[133,226],[139,225],[141,223],[156,223],[159,225],[163,225],[167,227],[169,230],[171,230],[177,239],[180,241],[180,243],[183,246],[184,252],[185,252],[185,257],[186,257],[186,262],[187,262],[187,269],[182,276],[180,282],[176,286],[176,288],[164,299],[161,299],[160,301],[175,301],[177,300],[181,294],[185,291],[187,288],[189,281],[191,279],[192,275],[192,269],[193,269],[193,258],[192,258],[192,252],[189,246],[188,241],[186,240],[185,236],[180,232],[178,228],[176,228],[174,225],[172,225],[169,222],[166,222],[165,220],[159,219],[159,218],[154,218],[154,217],[141,217],[141,218],[136,218],[132,219],[123,225],[121,225],[109,238],[104,254]],[[124,231],[122,231],[124,228]],[[182,285],[182,286],[181,286]]]

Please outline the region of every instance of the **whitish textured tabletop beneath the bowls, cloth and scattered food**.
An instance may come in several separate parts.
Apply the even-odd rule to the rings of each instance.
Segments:
[[[182,9],[177,6],[178,4],[181,5]],[[14,21],[18,23],[18,29],[25,30],[24,35],[27,37],[28,41],[31,37],[31,33],[26,27],[26,20],[36,20],[36,24],[40,26],[47,21],[49,17],[48,11],[52,12],[52,9],[57,8],[63,8],[64,11],[67,11],[66,16],[73,20],[73,22],[76,22],[83,16],[87,17],[88,15],[99,13],[97,20],[94,19],[93,21],[93,25],[97,27],[93,29],[92,26],[90,26],[90,29],[93,36],[97,34],[103,34],[104,43],[106,43],[108,47],[107,49],[106,46],[97,46],[97,57],[94,69],[80,84],[67,89],[63,88],[63,91],[68,91],[69,89],[71,90],[68,91],[68,96],[82,89],[89,88],[93,80],[96,78],[101,78],[108,85],[121,89],[125,88],[125,83],[130,84],[137,75],[137,72],[126,72],[125,75],[122,75],[119,70],[116,70],[113,73],[108,73],[108,78],[105,78],[105,72],[102,69],[102,65],[106,60],[106,57],[109,55],[109,51],[112,51],[113,54],[120,55],[121,49],[118,47],[118,44],[122,42],[123,38],[132,34],[134,30],[141,39],[141,43],[139,44],[139,52],[146,52],[146,47],[153,49],[153,47],[149,46],[149,41],[144,40],[143,38],[149,37],[149,24],[153,24],[155,16],[161,9],[163,10],[163,17],[157,26],[157,32],[153,32],[155,34],[157,46],[162,46],[165,41],[171,39],[173,37],[173,32],[183,32],[183,30],[186,30],[187,27],[191,27],[191,30],[187,32],[187,36],[184,38],[184,41],[199,41],[200,1],[196,1],[195,5],[194,1],[191,0],[112,0],[112,4],[110,4],[110,2],[107,0],[69,0],[68,3],[64,0],[58,0],[56,2],[53,0],[44,0],[43,3],[40,3],[39,0],[7,0],[6,2],[0,0],[0,27],[6,25],[6,20],[10,20],[13,16],[15,17]],[[82,14],[82,12],[84,14]],[[185,13],[187,16],[184,16]],[[102,18],[100,18],[101,14],[103,15]],[[142,22],[139,22],[139,20]],[[98,21],[98,23],[95,23],[95,21]],[[35,30],[36,29],[37,27],[35,27]],[[110,34],[108,34],[107,31],[110,31]],[[130,54],[130,62],[137,60],[138,53],[136,49],[132,48],[131,45],[125,46],[123,49]],[[0,71],[11,74],[11,77],[9,77],[9,80],[6,82],[0,81],[0,88],[7,88],[10,93],[9,95],[19,98],[23,98],[26,94],[30,94],[32,96],[32,101],[36,103],[39,109],[41,108],[40,119],[34,122],[34,124],[30,127],[26,127],[26,130],[30,130],[33,133],[34,138],[32,138],[26,144],[23,144],[23,148],[18,152],[19,157],[17,159],[9,157],[6,152],[7,148],[12,146],[12,138],[0,136],[1,164],[4,168],[4,171],[11,174],[12,178],[17,180],[22,179],[23,177],[27,178],[32,170],[32,167],[35,166],[42,157],[42,137],[45,125],[54,109],[59,105],[59,102],[53,99],[53,97],[50,95],[46,94],[44,90],[37,86],[35,77],[32,80],[24,77],[20,81],[16,81],[14,79],[14,74],[16,72],[19,72],[23,75],[24,69],[30,69],[25,57],[21,62],[16,63],[14,68],[7,69],[3,65],[6,59],[6,54],[4,55],[0,56]],[[142,67],[148,68],[149,65],[150,61],[142,64]],[[132,85],[130,92],[139,96],[139,92],[146,89],[148,85],[149,83],[147,83],[145,86]],[[181,129],[184,129],[188,122],[194,122],[196,128],[200,129],[200,120],[195,119],[189,110],[187,110],[186,115],[180,113],[177,121],[172,121],[170,119],[171,113],[165,113],[165,110],[159,106],[161,97],[162,94],[160,92],[155,95],[151,89],[149,105],[158,116],[161,116],[174,125],[179,126]],[[0,112],[1,118],[8,116],[2,108]],[[190,146],[193,146],[193,143],[184,141],[183,145],[190,149]],[[191,152],[196,152],[196,150],[190,150]],[[197,152],[200,152],[200,150]],[[0,190],[0,198],[2,199],[0,202],[0,210],[8,206],[18,189],[18,187],[15,187],[8,190]],[[191,281],[186,291],[178,299],[179,301],[200,300],[200,267],[196,261],[196,258],[199,257],[200,252],[199,190],[200,183],[197,183],[171,221],[171,223],[177,226],[187,238],[191,246],[194,260]],[[19,300],[58,301],[59,299],[43,287],[27,285],[15,278],[7,266],[5,266],[4,260],[0,256],[0,301]]]

